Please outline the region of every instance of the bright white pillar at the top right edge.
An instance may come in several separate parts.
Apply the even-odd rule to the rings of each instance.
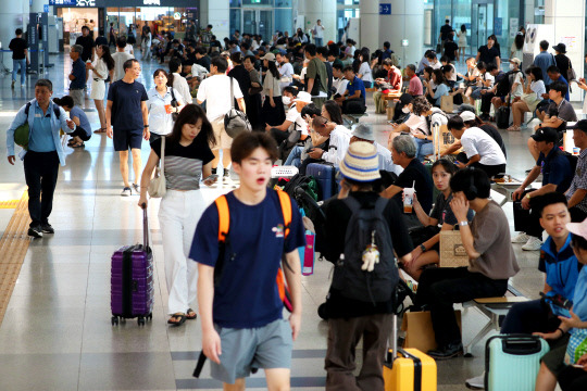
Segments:
[[[583,76],[585,42],[585,0],[547,0],[545,3],[545,24],[554,26],[554,42],[566,45],[566,56],[571,59],[577,77]],[[563,75],[566,78],[566,75]],[[583,90],[576,87],[571,101],[583,101]]]

